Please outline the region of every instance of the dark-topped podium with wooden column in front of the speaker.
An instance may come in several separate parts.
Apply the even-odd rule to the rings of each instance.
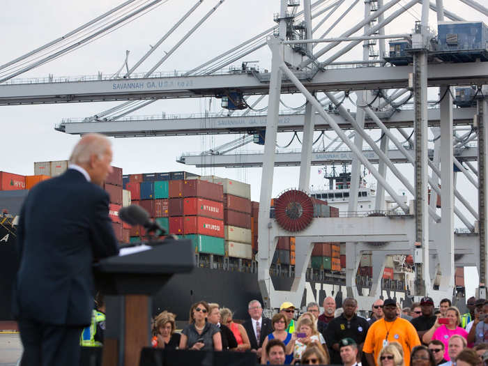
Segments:
[[[166,239],[93,266],[107,312],[102,366],[139,365],[141,349],[151,344],[151,296],[174,273],[191,272],[194,253],[191,241]]]

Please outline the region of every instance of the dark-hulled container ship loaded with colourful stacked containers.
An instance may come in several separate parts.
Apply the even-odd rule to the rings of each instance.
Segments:
[[[0,320],[12,319],[10,314],[11,286],[17,270],[15,255],[15,215],[29,189],[52,176],[62,174],[66,161],[36,162],[33,176],[2,174],[0,212]],[[142,206],[168,234],[190,239],[195,247],[197,266],[192,273],[174,275],[153,297],[153,312],[169,310],[178,319],[187,319],[190,305],[197,300],[217,302],[234,310],[236,319],[247,317],[247,303],[261,300],[257,282],[257,220],[259,203],[250,199],[250,185],[217,176],[198,176],[186,171],[123,175],[121,168],[104,184],[109,193],[109,215],[117,239],[121,243],[145,241],[143,227],[121,222],[123,206]],[[315,193],[317,195],[317,192]],[[321,215],[338,217],[339,209],[330,206],[322,196]],[[273,207],[273,201],[270,205]],[[271,211],[271,215],[273,210]],[[329,216],[328,216],[329,215]],[[315,243],[307,268],[303,307],[310,301],[322,303],[333,296],[342,303],[345,296],[345,245]],[[383,296],[403,300],[413,280],[411,258],[388,257],[383,273]],[[287,291],[294,275],[295,238],[281,237],[270,268],[275,289]],[[461,278],[457,272],[457,282]],[[367,293],[372,284],[370,254],[363,254],[356,282],[360,293]],[[464,278],[463,278],[464,281]],[[464,284],[463,284],[464,285]]]

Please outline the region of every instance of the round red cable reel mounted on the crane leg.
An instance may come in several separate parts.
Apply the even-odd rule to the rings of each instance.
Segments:
[[[301,190],[287,190],[275,199],[275,218],[285,230],[304,230],[314,218],[312,199]]]

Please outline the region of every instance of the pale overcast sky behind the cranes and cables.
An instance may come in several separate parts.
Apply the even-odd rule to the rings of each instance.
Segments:
[[[0,29],[3,35],[0,43],[0,64],[68,33],[121,2],[120,0],[3,0],[0,13]],[[328,3],[332,2],[328,1]],[[132,66],[194,3],[196,0],[162,1],[162,5],[158,8],[121,29],[20,77],[47,77],[49,74],[54,77],[96,75],[99,72],[111,75],[122,66],[126,50],[130,50],[128,62],[129,66]],[[144,72],[151,68],[162,57],[163,51],[171,49],[216,3],[217,0],[205,0],[181,28],[165,41],[160,50],[137,69],[137,72]],[[351,3],[351,0],[346,0],[335,15],[314,33],[314,38],[319,37]],[[400,1],[400,4],[405,3],[406,0]],[[444,0],[444,3],[445,8],[466,20],[488,22],[487,17],[476,13],[459,0]],[[397,10],[399,6],[401,5],[394,6],[392,10]],[[279,8],[280,1],[277,0],[224,1],[222,6],[158,70],[190,70],[208,61],[213,56],[273,26],[273,13],[277,13]],[[363,19],[363,15],[363,1],[360,1],[329,36],[340,36],[346,29]],[[417,5],[390,23],[386,27],[386,33],[410,33],[415,20],[419,18],[420,6]],[[317,24],[317,20],[314,24]],[[436,29],[436,17],[432,12],[429,24],[432,29]],[[356,47],[342,59],[360,59],[361,48]],[[260,68],[270,68],[269,49],[264,47],[241,61],[245,60],[258,60]],[[234,65],[240,66],[241,61]],[[283,99],[292,106],[301,105],[304,100],[300,96],[284,96]],[[0,170],[29,175],[33,174],[35,161],[68,158],[70,149],[79,137],[56,132],[54,124],[59,123],[63,118],[91,116],[115,105],[119,103],[0,107],[0,146],[3,152]],[[207,109],[218,112],[219,105],[220,99],[215,98],[161,100],[135,114],[203,113]],[[236,135],[113,139],[114,165],[122,167],[125,174],[187,170],[198,174],[236,178],[250,183],[252,199],[259,201],[261,169],[197,169],[176,162],[176,157],[183,152],[207,150],[234,137]],[[284,144],[289,141],[289,138],[289,135],[282,134],[279,142]],[[257,147],[249,147],[249,149],[255,148]],[[411,170],[404,169],[411,174]],[[315,186],[323,184],[317,171],[318,167],[312,167],[311,183]],[[396,184],[394,177],[389,176],[389,179]],[[298,186],[298,168],[275,169],[273,195],[296,186]]]

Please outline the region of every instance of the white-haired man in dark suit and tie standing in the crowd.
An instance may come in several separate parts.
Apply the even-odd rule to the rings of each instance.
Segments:
[[[251,319],[245,321],[243,326],[251,342],[251,352],[256,352],[257,357],[261,358],[264,339],[273,332],[271,319],[262,316],[263,308],[258,300],[251,300],[247,305],[247,311]]]

